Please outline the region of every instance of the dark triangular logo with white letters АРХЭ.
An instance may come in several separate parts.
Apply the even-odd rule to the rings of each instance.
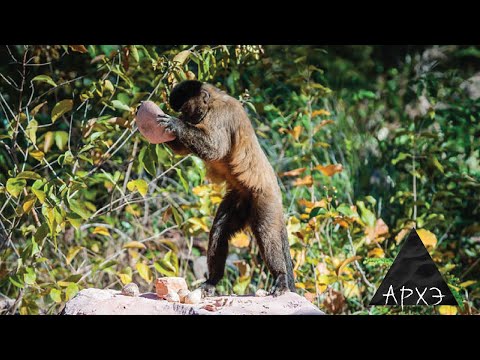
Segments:
[[[415,229],[370,305],[458,305]]]

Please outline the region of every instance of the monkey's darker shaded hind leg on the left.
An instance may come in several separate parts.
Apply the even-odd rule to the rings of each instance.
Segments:
[[[212,229],[207,251],[208,280],[202,285],[204,296],[212,296],[225,272],[228,240],[247,222],[249,202],[236,191],[227,193],[221,202]]]

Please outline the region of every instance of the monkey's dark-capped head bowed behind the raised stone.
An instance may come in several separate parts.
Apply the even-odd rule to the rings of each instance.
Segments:
[[[170,94],[170,106],[182,113],[182,119],[198,124],[208,112],[210,92],[197,80],[186,80],[177,84]]]

